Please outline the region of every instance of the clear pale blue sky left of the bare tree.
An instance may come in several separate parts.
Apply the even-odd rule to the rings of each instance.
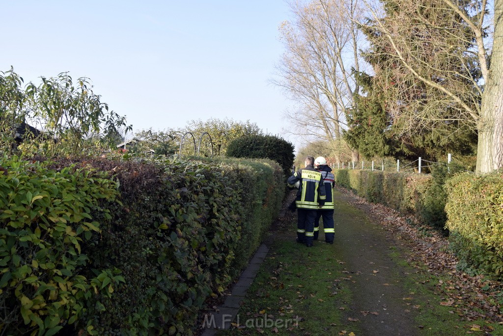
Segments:
[[[25,83],[68,71],[133,130],[210,117],[280,134],[290,104],[268,84],[283,46],[283,0],[4,1],[0,70]],[[288,138],[287,138],[288,139]]]

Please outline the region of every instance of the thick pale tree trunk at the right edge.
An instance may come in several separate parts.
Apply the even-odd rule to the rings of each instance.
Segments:
[[[478,122],[477,174],[503,168],[503,0],[494,1],[491,65]]]

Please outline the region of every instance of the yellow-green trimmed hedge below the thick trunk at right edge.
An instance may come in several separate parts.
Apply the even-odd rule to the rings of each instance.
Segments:
[[[503,279],[503,174],[460,174],[447,184],[449,240],[466,271]],[[474,273],[479,271],[473,271]]]

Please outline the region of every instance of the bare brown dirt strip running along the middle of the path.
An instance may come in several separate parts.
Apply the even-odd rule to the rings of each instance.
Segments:
[[[351,201],[336,193],[333,255],[345,262],[351,276],[346,286],[353,293],[346,316],[358,318],[366,335],[414,335],[418,327],[413,308],[404,300],[409,296],[402,282],[405,271],[390,256],[394,242],[381,226],[372,223],[369,207],[356,209]]]

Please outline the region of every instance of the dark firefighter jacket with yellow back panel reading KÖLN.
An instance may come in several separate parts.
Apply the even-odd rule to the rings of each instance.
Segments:
[[[316,171],[312,165],[308,165],[306,168],[297,170],[288,178],[288,186],[293,187],[297,181],[300,181],[295,201],[297,208],[318,209],[318,200],[326,198],[321,173]]]

